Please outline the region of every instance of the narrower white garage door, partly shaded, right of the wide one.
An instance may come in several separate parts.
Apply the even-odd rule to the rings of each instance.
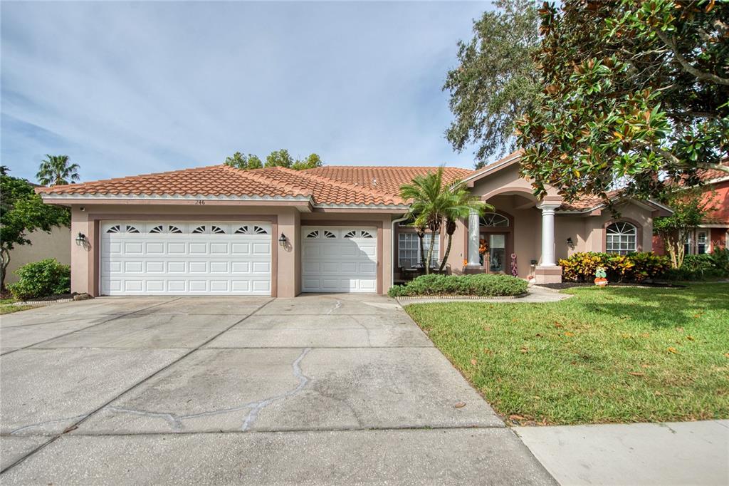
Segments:
[[[302,226],[303,292],[376,292],[377,228]]]

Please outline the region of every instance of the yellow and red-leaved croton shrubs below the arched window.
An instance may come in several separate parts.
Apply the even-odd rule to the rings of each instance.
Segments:
[[[591,282],[599,266],[607,271],[612,282],[642,282],[644,279],[660,277],[671,268],[667,257],[655,253],[609,253],[581,252],[559,261],[563,279],[570,282]]]

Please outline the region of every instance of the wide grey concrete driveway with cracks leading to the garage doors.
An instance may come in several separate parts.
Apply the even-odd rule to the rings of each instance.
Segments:
[[[3,484],[553,484],[383,296],[97,298],[0,347]]]

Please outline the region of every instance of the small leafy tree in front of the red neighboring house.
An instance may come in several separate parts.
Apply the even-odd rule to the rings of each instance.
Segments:
[[[715,203],[716,193],[706,193],[702,188],[676,190],[668,197],[674,214],[653,220],[653,232],[663,239],[674,269],[683,265],[684,245],[690,231],[709,220],[709,215],[716,209]]]

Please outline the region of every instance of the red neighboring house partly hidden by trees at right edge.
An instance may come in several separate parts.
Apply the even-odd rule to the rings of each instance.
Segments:
[[[729,159],[724,161],[729,166]],[[704,202],[709,202],[715,209],[706,220],[690,232],[685,244],[687,255],[701,255],[713,252],[716,248],[727,247],[729,235],[729,174],[717,169],[701,171],[699,175],[704,188]],[[653,236],[655,252],[666,253],[666,244],[660,236]]]

